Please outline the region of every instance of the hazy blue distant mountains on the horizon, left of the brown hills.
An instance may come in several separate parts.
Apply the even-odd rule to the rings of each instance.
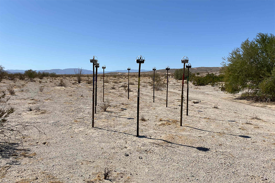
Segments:
[[[102,70],[100,68],[100,70]],[[24,73],[25,70],[13,70],[13,69],[7,69],[6,70],[7,72],[9,73]],[[51,69],[51,70],[37,70],[36,72],[48,72],[48,73],[56,73],[56,74],[74,74],[74,68],[70,68],[70,69]],[[82,71],[84,72],[84,74],[92,74],[93,71],[91,70],[86,70],[86,69],[82,69]],[[150,70],[144,70],[144,69],[141,69],[140,70],[141,72],[147,72],[147,71],[150,71]],[[116,71],[105,71],[104,73],[113,73],[113,72],[117,72],[117,73],[128,73],[128,70],[116,70]],[[130,73],[135,73],[135,72],[138,72],[137,69],[131,69],[130,70]],[[102,74],[103,72],[97,72],[99,74]]]

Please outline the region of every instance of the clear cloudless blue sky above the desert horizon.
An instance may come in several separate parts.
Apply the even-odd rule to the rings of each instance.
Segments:
[[[275,1],[0,1],[0,64],[6,69],[106,71],[219,67],[241,42],[275,34]]]

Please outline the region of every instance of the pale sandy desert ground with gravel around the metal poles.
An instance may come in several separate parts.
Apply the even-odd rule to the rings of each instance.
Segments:
[[[57,86],[60,79],[66,87]],[[128,83],[127,75],[105,79],[111,106],[106,112],[97,106],[94,128],[92,85],[85,81],[3,80],[1,90],[15,85],[9,122],[35,125],[46,135],[29,128],[23,132],[28,135],[23,148],[1,149],[0,182],[275,182],[274,103],[239,100],[218,87],[190,84],[189,99],[201,102],[189,101],[186,116],[184,101],[180,127],[181,81],[169,78],[166,108],[166,89],[155,91],[153,103],[151,80],[141,77],[140,116],[146,121],[140,120],[136,137],[137,77],[131,75],[129,100],[119,88]],[[100,105],[102,75],[98,80]],[[27,111],[28,106],[36,110]],[[105,168],[112,170],[108,180],[103,179]]]

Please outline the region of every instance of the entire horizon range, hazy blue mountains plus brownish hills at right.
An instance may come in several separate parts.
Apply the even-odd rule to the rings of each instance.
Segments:
[[[199,72],[199,73],[205,73],[205,72],[218,72],[220,71],[221,67],[195,67],[195,68],[191,68],[190,71],[191,72]],[[100,68],[99,70],[102,71],[102,69]],[[170,73],[175,72],[176,69],[170,69]],[[70,68],[70,69],[51,69],[51,70],[37,70],[37,72],[48,72],[48,73],[56,73],[56,74],[74,74],[74,69]],[[86,70],[86,69],[82,69],[82,71],[84,72],[84,74],[92,74],[93,71],[91,70]],[[144,70],[141,69],[141,72],[150,72],[152,70]],[[25,70],[12,70],[12,69],[8,69],[6,70],[6,72],[8,73],[24,73]],[[136,73],[138,72],[137,69],[131,69],[130,70],[131,73]],[[167,72],[165,69],[160,69],[157,70],[157,72]],[[102,74],[103,72],[98,72],[99,74]],[[128,70],[116,70],[116,71],[105,71],[105,73],[128,73]]]

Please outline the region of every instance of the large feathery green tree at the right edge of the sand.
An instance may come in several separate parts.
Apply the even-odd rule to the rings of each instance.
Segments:
[[[274,100],[275,36],[258,33],[223,58],[226,91],[260,100]]]

